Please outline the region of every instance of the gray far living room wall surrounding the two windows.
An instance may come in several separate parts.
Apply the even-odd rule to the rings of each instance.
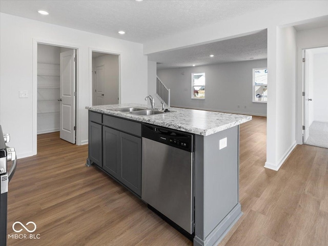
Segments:
[[[157,70],[171,89],[171,106],[221,112],[267,115],[267,104],[253,103],[253,68],[267,67],[267,60],[241,61]],[[192,99],[192,73],[205,73],[205,99]],[[239,106],[239,107],[238,107]]]

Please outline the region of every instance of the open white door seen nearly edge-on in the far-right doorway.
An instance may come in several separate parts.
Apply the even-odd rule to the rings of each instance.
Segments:
[[[310,120],[309,120],[309,77],[306,76],[306,66],[309,64],[309,59],[306,59],[305,57],[306,51],[303,50],[303,91],[304,91],[304,96],[303,96],[303,142],[306,142],[308,140],[309,135],[310,135]],[[311,99],[312,100],[312,99]]]

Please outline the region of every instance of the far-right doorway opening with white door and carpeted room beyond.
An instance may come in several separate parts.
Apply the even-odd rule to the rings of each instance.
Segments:
[[[328,47],[303,50],[303,143],[328,148]]]

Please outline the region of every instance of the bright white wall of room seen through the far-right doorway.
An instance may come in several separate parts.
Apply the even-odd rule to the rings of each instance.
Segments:
[[[314,120],[328,122],[328,53],[314,54]]]

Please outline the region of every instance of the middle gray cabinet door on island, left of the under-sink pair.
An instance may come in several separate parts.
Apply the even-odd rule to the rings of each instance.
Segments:
[[[119,179],[119,131],[109,127],[103,129],[104,170]]]

